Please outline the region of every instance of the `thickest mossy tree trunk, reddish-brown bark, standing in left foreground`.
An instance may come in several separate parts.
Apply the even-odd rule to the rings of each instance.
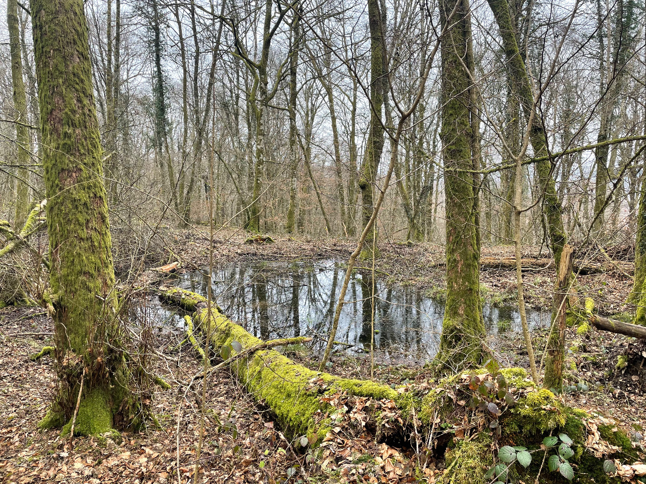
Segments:
[[[113,349],[114,270],[87,21],[82,0],[32,0],[31,10],[59,378],[41,424],[70,419],[85,368],[75,433],[100,434],[130,421],[134,399],[123,385],[123,355]]]

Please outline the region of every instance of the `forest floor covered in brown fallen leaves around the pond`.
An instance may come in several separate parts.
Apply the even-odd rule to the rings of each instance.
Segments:
[[[165,234],[171,248],[169,262],[179,259],[183,268],[208,264],[208,238],[194,232]],[[214,245],[216,262],[293,259],[345,259],[353,249],[348,241],[324,241],[277,236],[274,243],[246,243],[244,232],[218,234]],[[536,256],[537,248],[523,256]],[[533,250],[533,252],[532,252]],[[392,283],[416,284],[441,292],[443,271],[435,261],[443,260],[443,248],[433,245],[382,243],[378,270]],[[510,247],[483,248],[483,255],[511,256]],[[514,270],[484,269],[483,294],[496,301],[515,301]],[[553,270],[526,273],[530,284],[530,303],[548,307]],[[579,294],[591,295],[606,314],[623,311],[622,301],[630,280],[621,274],[582,276]],[[54,372],[48,357],[38,362],[28,359],[51,341],[52,321],[40,308],[0,310],[0,478],[8,482],[37,483],[164,483],[191,479],[200,428],[197,392],[185,394],[182,387],[158,389],[151,408],[161,428],[150,426],[137,433],[123,433],[123,441],[74,438],[72,447],[58,432],[39,432],[38,421],[45,416],[54,394]],[[537,354],[542,354],[545,330],[534,333]],[[183,335],[160,332],[156,349],[167,351]],[[590,413],[612,417],[635,440],[646,434],[646,398],[643,390],[643,362],[646,346],[610,333],[590,330],[578,334],[569,328],[567,335],[567,381],[585,382],[586,392],[572,392],[559,398],[567,405]],[[618,366],[620,356],[629,348],[629,357]],[[496,350],[503,361],[526,367],[527,355],[521,335],[507,334],[497,341]],[[154,370],[167,381],[186,381],[200,371],[193,354],[180,356],[178,365],[154,363]],[[317,367],[317,355],[296,352],[289,355],[299,363]],[[624,364],[625,363],[625,364]],[[368,356],[336,354],[328,369],[351,378],[370,378]],[[420,362],[387,365],[377,360],[377,379],[384,383],[428,381],[431,376]],[[225,369],[209,379],[205,408],[212,410],[205,426],[205,443],[200,459],[203,482],[212,483],[322,483],[322,482],[413,482],[425,478],[429,483],[443,469],[443,461],[427,461],[421,474],[413,472],[415,451],[392,447],[370,438],[344,438],[313,457],[295,450],[271,414],[241,390]],[[179,418],[179,422],[178,422]],[[642,441],[642,444],[644,442]],[[394,444],[393,444],[394,445]]]

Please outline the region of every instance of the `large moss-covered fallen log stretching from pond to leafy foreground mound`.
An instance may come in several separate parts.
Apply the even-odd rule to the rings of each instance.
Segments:
[[[446,450],[443,482],[453,483],[466,482],[467,476],[469,482],[487,482],[485,474],[503,445],[523,445],[535,452],[529,467],[509,470],[515,482],[533,482],[539,474],[541,482],[561,482],[541,465],[546,452],[541,447],[543,439],[561,433],[573,441],[570,460],[585,469],[577,476],[579,482],[618,482],[603,472],[607,455],[628,462],[637,458],[630,439],[612,421],[568,407],[550,390],[536,387],[523,368],[498,369],[494,363],[488,369],[453,374],[437,383],[397,389],[339,378],[262,348],[260,339],[215,308],[209,319],[202,296],[178,288],[165,292],[162,297],[167,301],[186,301],[185,308],[198,308],[193,316],[196,328],[211,330],[216,348],[228,347],[227,364],[238,381],[271,409],[288,436],[307,436],[308,444],[334,439],[340,429],[347,432],[357,421],[363,426],[360,429],[379,433],[378,428],[368,428],[370,418],[372,424],[389,427],[382,435],[412,443],[417,438],[429,443],[428,450],[435,456]],[[259,345],[262,349],[253,351]],[[593,432],[596,438],[590,439]],[[296,440],[298,445],[302,439]],[[545,455],[554,452],[547,449]]]

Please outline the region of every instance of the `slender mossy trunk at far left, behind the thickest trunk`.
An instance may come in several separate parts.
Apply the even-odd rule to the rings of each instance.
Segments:
[[[20,53],[20,28],[18,23],[17,0],[7,0],[6,25],[9,30],[9,50],[11,55],[11,80],[14,87],[14,114],[16,119],[16,148],[18,183],[16,191],[16,217],[14,227],[20,230],[29,213],[29,172],[26,166],[29,163],[29,133],[27,130],[27,98],[25,81],[23,81],[23,61]]]

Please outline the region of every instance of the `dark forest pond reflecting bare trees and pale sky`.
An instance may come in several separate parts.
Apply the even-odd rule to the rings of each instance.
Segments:
[[[335,305],[346,273],[339,261],[258,261],[231,263],[214,269],[213,297],[233,321],[261,339],[311,336],[315,351],[325,345]],[[204,270],[203,274],[208,274]],[[209,277],[194,270],[169,283],[206,296]],[[388,359],[421,358],[435,355],[442,329],[444,301],[431,297],[413,285],[388,284],[370,272],[355,271],[346,292],[335,341],[338,350],[363,352],[370,348],[374,314],[375,350]],[[372,310],[372,301],[375,308]],[[151,315],[157,321],[183,319],[172,308],[158,308]],[[493,307],[485,303],[487,333],[503,336],[521,331],[517,308]],[[532,328],[548,327],[548,311],[527,310]],[[495,346],[495,341],[492,341]]]

